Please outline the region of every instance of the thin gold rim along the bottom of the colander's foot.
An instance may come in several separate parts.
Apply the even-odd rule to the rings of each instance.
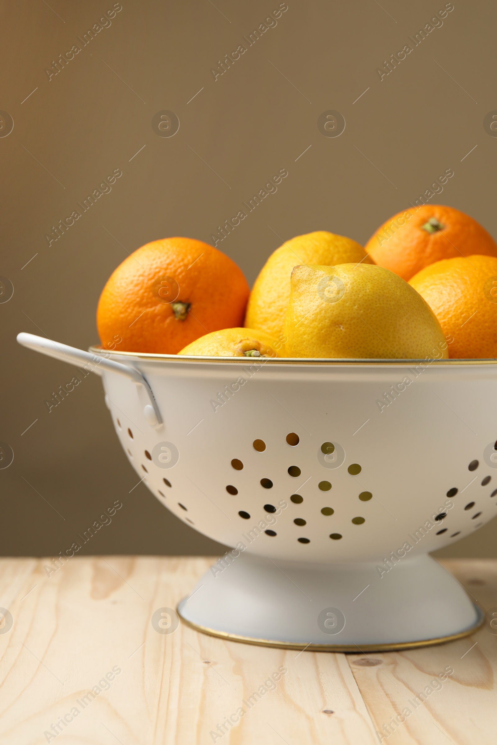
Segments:
[[[449,641],[457,641],[465,636],[470,636],[475,633],[485,621],[485,614],[482,609],[476,604],[476,613],[478,618],[469,629],[460,631],[457,634],[450,634],[449,636],[440,636],[434,639],[421,639],[420,641],[394,641],[391,644],[302,644],[297,641],[276,641],[276,639],[258,639],[251,636],[241,636],[239,634],[229,634],[226,631],[216,631],[215,629],[209,629],[209,627],[201,626],[200,624],[194,624],[193,621],[189,621],[183,615],[181,615],[180,605],[178,603],[176,611],[180,616],[183,624],[190,627],[194,631],[200,631],[203,634],[209,636],[216,636],[224,641],[238,641],[241,644],[253,644],[256,647],[276,647],[278,649],[285,650],[306,650],[306,652],[342,652],[342,653],[355,653],[360,654],[364,652],[396,652],[399,650],[415,649],[417,647],[433,647],[434,644],[448,644]]]

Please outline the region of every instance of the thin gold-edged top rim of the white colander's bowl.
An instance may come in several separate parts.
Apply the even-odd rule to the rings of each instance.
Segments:
[[[401,365],[410,367],[412,365],[495,365],[497,364],[497,358],[491,359],[460,359],[460,360],[437,360],[434,358],[425,359],[321,359],[321,358],[308,358],[308,357],[207,357],[200,355],[159,355],[153,352],[121,352],[117,349],[104,349],[102,346],[90,346],[89,352],[94,355],[101,355],[102,352],[107,355],[116,355],[118,357],[134,357],[144,360],[159,360],[168,362],[192,362],[200,364],[203,362],[218,363],[218,364],[241,364],[241,365],[316,365],[323,366],[329,365],[334,366],[348,366],[353,365],[354,367],[363,366],[390,366],[390,365]]]

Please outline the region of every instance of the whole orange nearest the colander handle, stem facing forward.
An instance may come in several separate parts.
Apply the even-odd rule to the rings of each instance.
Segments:
[[[242,326],[249,287],[226,254],[193,238],[163,238],[134,251],[98,301],[102,346],[175,355],[200,336]]]

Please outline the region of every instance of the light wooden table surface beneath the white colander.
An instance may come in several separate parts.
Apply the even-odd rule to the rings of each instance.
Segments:
[[[210,563],[75,557],[48,577],[48,559],[0,559],[0,606],[13,621],[5,631],[10,616],[3,628],[0,618],[1,745],[373,745],[405,708],[412,713],[383,742],[496,744],[488,625],[438,647],[356,655],[252,647],[183,624],[157,633],[153,613],[174,608]],[[497,606],[497,560],[443,564],[484,609]],[[279,668],[288,672],[273,684]],[[446,668],[454,673],[430,685]],[[260,700],[242,703],[261,686]]]

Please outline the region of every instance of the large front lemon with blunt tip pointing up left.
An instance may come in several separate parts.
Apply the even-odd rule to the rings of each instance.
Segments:
[[[372,264],[298,266],[285,322],[288,357],[447,357],[440,323],[399,276]]]

